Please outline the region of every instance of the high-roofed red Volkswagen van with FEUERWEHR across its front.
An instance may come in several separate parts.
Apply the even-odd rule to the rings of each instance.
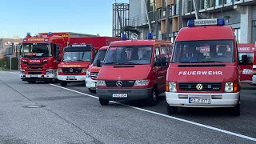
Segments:
[[[204,55],[206,46],[210,53]],[[178,107],[230,107],[240,115],[239,65],[234,32],[224,19],[188,21],[178,32],[167,72],[168,113]]]

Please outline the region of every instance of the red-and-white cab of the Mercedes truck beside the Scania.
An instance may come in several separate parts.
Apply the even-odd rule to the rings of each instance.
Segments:
[[[58,81],[61,86],[70,82],[85,82],[86,70],[94,58],[94,47],[84,44],[66,46],[62,62],[58,64]]]

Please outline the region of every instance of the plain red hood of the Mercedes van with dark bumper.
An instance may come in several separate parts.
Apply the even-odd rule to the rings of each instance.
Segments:
[[[139,79],[146,79],[149,72],[150,72],[150,65],[135,65],[134,67],[125,67],[125,66],[114,67],[114,66],[105,65],[105,66],[102,66],[102,69],[98,74],[98,79],[139,80]]]

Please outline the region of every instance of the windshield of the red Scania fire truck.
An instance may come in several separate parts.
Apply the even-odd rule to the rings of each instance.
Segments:
[[[50,44],[47,43],[27,43],[22,46],[22,57],[50,57]]]

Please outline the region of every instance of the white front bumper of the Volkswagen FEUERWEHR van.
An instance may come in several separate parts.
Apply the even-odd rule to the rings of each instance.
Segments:
[[[184,98],[188,96],[188,98]],[[179,98],[183,97],[183,98]],[[166,102],[170,106],[182,107],[234,107],[240,97],[238,93],[171,93],[166,92]],[[190,103],[189,98],[210,98],[210,103]]]

